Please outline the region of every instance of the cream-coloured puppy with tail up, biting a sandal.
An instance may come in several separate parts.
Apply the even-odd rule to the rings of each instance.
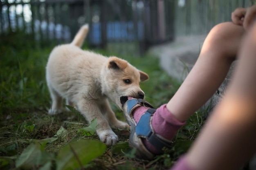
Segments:
[[[81,50],[88,33],[84,25],[71,44],[56,46],[46,66],[46,80],[52,98],[49,114],[61,113],[62,99],[76,107],[90,122],[97,118],[97,135],[107,145],[118,141],[111,127],[129,127],[119,121],[112,111],[108,98],[121,109],[121,98],[144,98],[139,83],[148,75],[117,57],[104,57],[90,51]],[[123,109],[122,109],[123,110]]]

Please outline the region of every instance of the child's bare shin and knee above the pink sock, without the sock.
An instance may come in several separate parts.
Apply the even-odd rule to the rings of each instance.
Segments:
[[[213,95],[235,60],[244,29],[232,22],[218,24],[204,41],[197,62],[167,109],[185,121]]]

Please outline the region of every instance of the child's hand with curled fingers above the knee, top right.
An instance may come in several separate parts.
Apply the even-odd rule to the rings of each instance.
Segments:
[[[232,14],[232,21],[248,30],[256,18],[256,5],[249,8],[237,8]]]

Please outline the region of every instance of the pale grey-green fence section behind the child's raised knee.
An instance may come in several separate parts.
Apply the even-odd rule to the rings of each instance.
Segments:
[[[231,21],[238,7],[250,7],[255,0],[177,0],[175,36],[207,34],[221,22]]]

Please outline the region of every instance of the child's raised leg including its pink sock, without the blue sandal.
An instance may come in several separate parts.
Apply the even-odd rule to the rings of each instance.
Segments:
[[[177,93],[157,108],[152,118],[155,134],[171,140],[184,121],[213,95],[224,80],[231,63],[236,58],[244,29],[231,22],[218,24],[207,36],[200,56]],[[136,122],[145,113],[143,106],[133,111]],[[159,154],[154,145],[143,139],[146,148]]]

